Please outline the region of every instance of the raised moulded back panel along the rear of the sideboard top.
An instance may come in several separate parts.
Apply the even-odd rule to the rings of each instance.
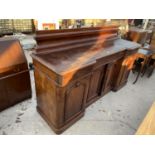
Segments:
[[[83,48],[102,48],[118,38],[118,26],[36,32],[36,53],[45,54]]]

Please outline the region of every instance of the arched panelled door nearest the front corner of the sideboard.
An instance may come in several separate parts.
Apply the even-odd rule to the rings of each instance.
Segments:
[[[70,84],[65,93],[65,121],[84,111],[90,77]]]

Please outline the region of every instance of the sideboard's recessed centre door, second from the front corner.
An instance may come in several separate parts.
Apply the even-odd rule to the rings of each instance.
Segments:
[[[101,82],[104,75],[105,66],[95,69],[91,74],[90,86],[87,101],[98,97],[101,91]]]

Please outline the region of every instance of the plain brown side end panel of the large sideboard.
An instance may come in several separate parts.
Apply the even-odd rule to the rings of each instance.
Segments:
[[[56,103],[56,86],[51,79],[39,69],[34,70],[37,107],[48,121],[57,127],[57,103]]]

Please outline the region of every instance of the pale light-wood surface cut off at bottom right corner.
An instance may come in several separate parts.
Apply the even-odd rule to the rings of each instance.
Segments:
[[[155,102],[139,126],[136,135],[155,135]]]

